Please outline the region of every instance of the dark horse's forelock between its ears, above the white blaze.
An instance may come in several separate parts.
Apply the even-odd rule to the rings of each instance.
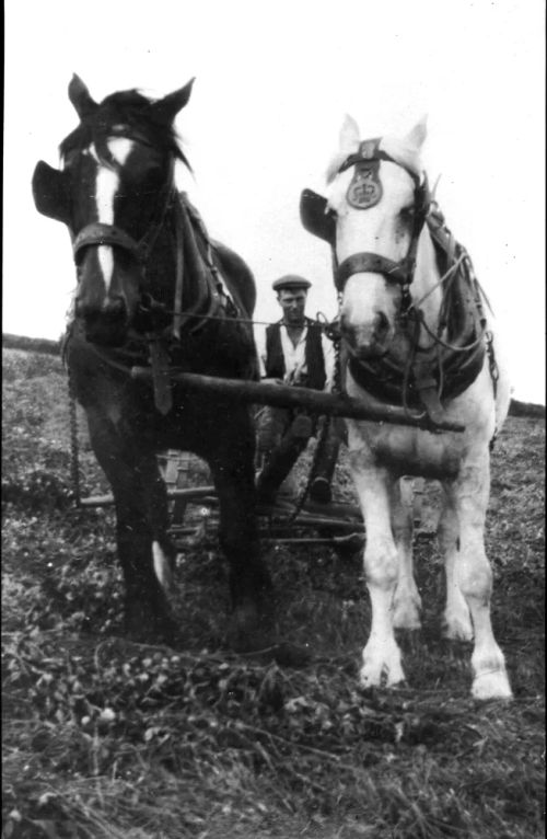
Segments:
[[[153,102],[136,89],[106,96],[59,145],[61,159],[93,142],[101,161],[112,165],[107,140],[113,134],[119,134],[123,126],[124,136],[143,136],[151,146],[181,160],[191,171],[175,128],[154,118],[154,111],[149,107]]]

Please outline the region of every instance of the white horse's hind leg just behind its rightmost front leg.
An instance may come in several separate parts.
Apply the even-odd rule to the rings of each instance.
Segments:
[[[444,486],[443,493],[443,507],[437,529],[439,548],[444,556],[446,575],[446,607],[444,609],[442,634],[450,641],[472,641],[472,618],[455,573],[459,551],[459,522],[454,499]]]

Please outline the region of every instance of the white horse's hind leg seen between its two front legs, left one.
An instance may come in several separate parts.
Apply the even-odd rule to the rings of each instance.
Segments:
[[[418,630],[421,627],[421,598],[414,578],[412,567],[412,481],[401,478],[391,491],[392,530],[399,554],[399,576],[394,598],[393,625],[396,629]]]

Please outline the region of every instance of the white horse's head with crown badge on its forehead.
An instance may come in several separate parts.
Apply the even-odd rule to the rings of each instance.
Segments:
[[[327,173],[340,327],[358,360],[408,353],[404,315],[417,260],[427,248],[421,237],[429,207],[420,161],[424,139],[422,120],[401,139],[361,141],[357,124],[346,117],[340,150]]]

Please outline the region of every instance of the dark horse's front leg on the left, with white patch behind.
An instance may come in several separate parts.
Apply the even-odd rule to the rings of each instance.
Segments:
[[[118,556],[125,581],[126,632],[138,641],[172,641],[175,624],[154,571],[168,565],[167,498],[155,455],[131,450],[110,421],[88,409],[95,457],[112,486]],[[160,571],[162,576],[162,571]]]

